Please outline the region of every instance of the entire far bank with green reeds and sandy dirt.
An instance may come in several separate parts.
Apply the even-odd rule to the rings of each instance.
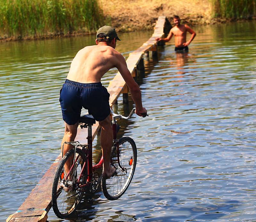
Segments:
[[[160,15],[191,26],[251,18],[256,0],[0,0],[0,40],[95,32],[148,30]],[[109,19],[106,19],[109,18]],[[107,21],[106,21],[107,20]]]

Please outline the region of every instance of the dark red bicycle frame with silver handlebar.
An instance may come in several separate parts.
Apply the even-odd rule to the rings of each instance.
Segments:
[[[119,153],[119,144],[118,144],[118,140],[116,139],[116,135],[117,135],[116,120],[119,120],[119,119],[130,119],[132,114],[135,111],[135,108],[132,109],[132,111],[131,111],[131,113],[129,114],[128,117],[124,117],[122,115],[115,114],[111,109],[110,109],[110,111],[111,111],[111,114],[112,114],[113,144],[117,148],[117,153]],[[84,127],[88,127],[88,136],[86,138],[87,139],[87,145],[84,145],[83,148],[82,148],[84,154],[87,156],[87,173],[88,173],[88,175],[87,175],[86,183],[82,184],[82,185],[79,185],[78,186],[79,188],[82,188],[82,187],[90,185],[91,182],[92,182],[93,172],[95,172],[96,169],[103,167],[103,156],[101,156],[100,161],[99,161],[98,164],[92,165],[92,124],[81,125],[81,128],[84,128]],[[79,149],[79,148],[76,148],[76,149]],[[76,160],[74,161],[73,165],[71,166],[71,168],[70,168],[70,170],[69,170],[65,180],[67,180],[67,178],[68,178],[70,172],[72,171],[72,169],[74,168],[74,165],[77,162],[77,160],[78,160],[78,157],[76,158]],[[117,155],[117,161],[118,161],[118,165],[120,166],[120,168],[123,171],[125,171],[124,167],[122,167],[121,164],[120,164],[119,155]],[[113,165],[113,163],[111,163],[111,164]],[[86,166],[86,163],[84,163],[84,165],[82,167],[81,173],[80,173],[79,178],[78,178],[78,184],[80,182],[82,174],[84,173],[85,166]]]

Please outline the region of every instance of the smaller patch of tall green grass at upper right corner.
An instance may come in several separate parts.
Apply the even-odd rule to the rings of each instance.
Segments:
[[[214,17],[241,19],[256,14],[256,0],[210,0]]]

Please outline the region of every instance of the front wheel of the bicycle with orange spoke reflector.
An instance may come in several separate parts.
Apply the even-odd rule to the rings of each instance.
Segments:
[[[104,178],[101,180],[103,194],[108,200],[116,200],[124,194],[132,181],[136,163],[135,142],[130,137],[122,137],[119,140],[119,163],[117,147],[113,146],[111,151],[111,164],[116,168],[116,175],[107,180]]]

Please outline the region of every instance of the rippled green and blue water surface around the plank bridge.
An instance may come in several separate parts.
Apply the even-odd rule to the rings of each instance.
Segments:
[[[138,148],[132,183],[116,201],[85,196],[74,221],[256,221],[255,22],[196,27],[188,54],[173,40],[138,78],[149,117],[121,122]],[[125,57],[151,32],[120,35]],[[94,37],[0,46],[0,220],[14,213],[60,153],[59,89]],[[102,82],[108,86],[116,70]],[[132,109],[122,96],[114,107]],[[94,161],[100,158],[94,140]],[[49,221],[63,221],[51,210]],[[68,221],[68,220],[64,220]]]

